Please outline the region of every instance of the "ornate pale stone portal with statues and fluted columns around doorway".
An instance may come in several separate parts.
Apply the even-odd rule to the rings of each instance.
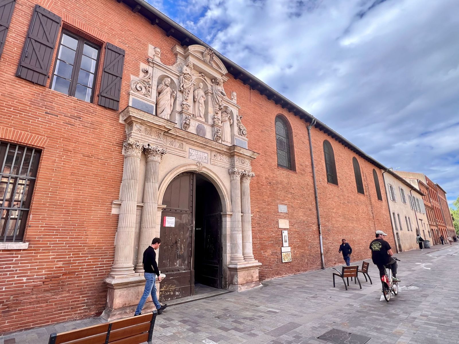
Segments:
[[[257,153],[246,149],[235,92],[231,100],[226,97],[226,68],[200,45],[172,51],[176,63],[168,66],[161,50],[149,47],[148,64],[140,63],[141,76],[131,77],[129,106],[120,113],[127,139],[120,199],[112,208],[119,217],[115,261],[106,279],[106,319],[131,314],[137,305],[145,285],[142,254],[160,235],[164,192],[181,172],[201,173],[220,195],[223,287],[261,285],[250,211],[251,161]],[[150,308],[147,303],[144,309]]]

